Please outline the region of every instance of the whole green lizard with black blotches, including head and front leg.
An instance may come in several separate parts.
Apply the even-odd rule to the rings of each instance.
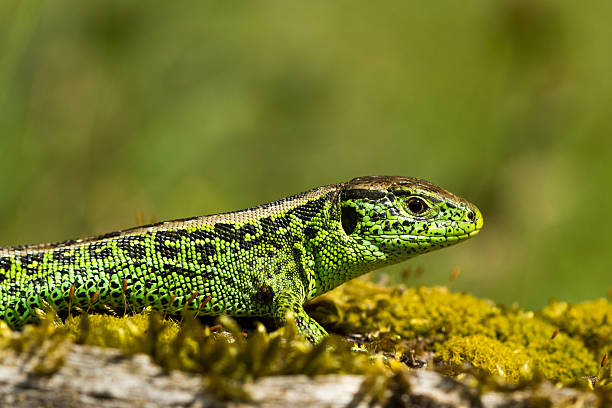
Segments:
[[[168,221],[56,244],[0,248],[0,319],[36,309],[292,314],[312,342],[325,330],[307,300],[366,272],[478,233],[473,204],[426,181],[371,176],[243,211]],[[93,299],[93,301],[92,301]]]

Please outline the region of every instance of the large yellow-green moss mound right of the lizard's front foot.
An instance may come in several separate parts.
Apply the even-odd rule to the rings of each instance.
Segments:
[[[569,384],[597,373],[582,335],[551,338],[556,326],[539,314],[446,288],[389,289],[356,280],[315,301],[312,311],[331,330],[366,333],[376,350],[432,351],[438,362],[467,362],[508,381],[537,373]]]

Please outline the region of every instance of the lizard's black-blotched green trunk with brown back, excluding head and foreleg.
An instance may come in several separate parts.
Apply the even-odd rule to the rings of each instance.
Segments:
[[[329,197],[339,186],[241,211],[0,248],[0,318],[19,327],[34,320],[33,310],[43,303],[63,312],[69,301],[88,308],[94,296],[93,309],[119,310],[125,301],[130,309],[175,313],[196,292],[192,309],[210,296],[201,314],[265,315],[264,282],[286,272],[293,243],[306,228],[326,228]]]

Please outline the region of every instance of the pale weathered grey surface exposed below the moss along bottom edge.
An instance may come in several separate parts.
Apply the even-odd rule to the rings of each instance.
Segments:
[[[30,360],[24,353],[5,353],[0,365],[1,406],[331,408],[366,407],[371,402],[361,397],[364,377],[357,375],[266,377],[245,385],[252,401],[224,402],[205,389],[202,377],[166,373],[145,355],[73,345],[63,364],[46,375],[37,374]],[[546,382],[514,392],[480,395],[475,387],[426,370],[397,374],[385,397],[389,405],[405,407],[600,406],[594,393]]]

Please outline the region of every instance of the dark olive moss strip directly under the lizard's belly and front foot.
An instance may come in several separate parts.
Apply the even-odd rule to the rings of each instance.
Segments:
[[[153,312],[122,318],[83,314],[65,323],[51,314],[21,332],[3,323],[0,350],[38,356],[41,367],[52,367],[39,370],[41,374],[61,366],[67,348],[61,354],[52,353],[58,344],[76,342],[118,348],[128,354],[145,353],[168,371],[201,374],[212,392],[227,399],[247,399],[242,384],[262,376],[379,374],[385,370],[381,359],[372,364],[366,354],[352,352],[350,344],[338,336],[312,345],[297,334],[291,320],[272,334],[257,324],[248,339],[233,319],[221,316],[218,322],[219,331],[190,316],[179,324]],[[50,360],[54,355],[58,358]]]

